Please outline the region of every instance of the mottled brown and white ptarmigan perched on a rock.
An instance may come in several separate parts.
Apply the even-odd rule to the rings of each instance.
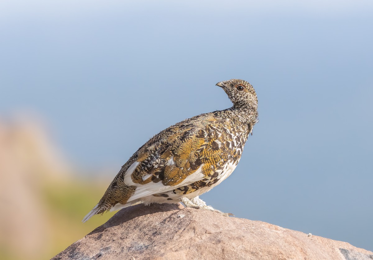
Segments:
[[[249,134],[258,122],[253,86],[241,79],[221,81],[231,108],[200,114],[160,131],[122,166],[93,215],[139,203],[179,203],[232,215],[208,206],[199,196],[236,168]]]

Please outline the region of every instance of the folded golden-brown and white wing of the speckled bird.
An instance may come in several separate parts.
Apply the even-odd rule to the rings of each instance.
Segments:
[[[221,144],[229,140],[224,128],[219,130],[213,125],[216,122],[203,126],[175,125],[150,139],[137,151],[136,159],[130,165],[123,165],[126,170],[115,178],[116,192],[122,193],[115,196],[118,198],[115,204],[187,186],[213,174],[214,168],[223,165],[228,158]]]

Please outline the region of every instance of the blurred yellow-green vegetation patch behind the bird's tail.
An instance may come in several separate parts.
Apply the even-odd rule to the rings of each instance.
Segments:
[[[41,197],[48,209],[48,218],[54,230],[51,232],[53,246],[46,248],[46,251],[40,255],[41,258],[50,259],[115,214],[115,212],[107,212],[93,216],[85,223],[81,222],[101,199],[109,183],[109,181],[92,182],[78,179],[44,187]]]

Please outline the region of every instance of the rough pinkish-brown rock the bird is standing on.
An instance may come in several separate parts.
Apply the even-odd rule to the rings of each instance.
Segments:
[[[139,204],[120,210],[53,259],[372,260],[373,253],[181,204]]]

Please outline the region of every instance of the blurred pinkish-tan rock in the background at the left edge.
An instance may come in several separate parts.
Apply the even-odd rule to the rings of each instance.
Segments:
[[[1,254],[6,250],[11,259],[36,259],[52,246],[41,190],[65,180],[66,169],[42,124],[0,118]]]

